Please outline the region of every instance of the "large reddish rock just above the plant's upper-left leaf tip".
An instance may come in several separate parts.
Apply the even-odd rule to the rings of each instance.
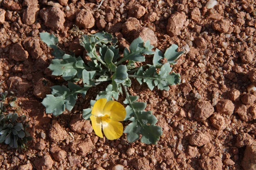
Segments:
[[[40,16],[44,24],[52,30],[63,30],[65,22],[65,13],[58,7],[43,8],[40,10]]]

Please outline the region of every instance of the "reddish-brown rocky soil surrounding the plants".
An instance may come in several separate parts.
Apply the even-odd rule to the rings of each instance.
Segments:
[[[0,92],[15,91],[18,114],[28,117],[33,137],[27,150],[1,144],[0,169],[255,169],[256,2],[218,0],[213,8],[206,0],[99,3],[0,0]],[[107,84],[91,88],[71,113],[45,114],[41,102],[49,87],[66,82],[51,76],[51,49],[39,33],[55,34],[64,51],[86,62],[79,34],[70,31],[74,24],[84,34],[112,33],[121,52],[138,36],[162,51],[171,44],[186,51],[173,67],[181,84],[169,91],[150,91],[132,79],[131,94],[148,104],[163,127],[158,144],[128,143],[125,134],[114,141],[95,135],[81,112]]]

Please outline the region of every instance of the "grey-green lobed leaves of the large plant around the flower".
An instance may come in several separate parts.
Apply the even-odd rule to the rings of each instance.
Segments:
[[[63,113],[65,109],[71,111],[76,104],[78,94],[84,97],[89,88],[99,85],[102,82],[110,82],[105,91],[99,92],[96,100],[106,98],[107,100],[118,100],[120,94],[126,99],[127,116],[125,120],[131,123],[125,128],[128,142],[134,142],[141,137],[141,142],[156,144],[162,135],[162,129],[156,126],[157,119],[151,111],[145,111],[146,103],[137,102],[138,96],[130,96],[128,88],[131,86],[131,79],[135,78],[142,84],[145,82],[152,90],[157,87],[159,90],[169,90],[169,85],[180,83],[180,74],[171,73],[170,65],[176,64],[176,59],[183,54],[177,52],[177,45],[172,45],[163,54],[160,50],[152,51],[154,46],[149,40],[144,41],[138,37],[129,49],[125,48],[123,57],[119,55],[117,39],[111,34],[99,32],[92,35],[81,35],[80,45],[87,51],[91,61],[86,64],[81,57],[74,57],[65,54],[58,48],[58,38],[48,33],[40,33],[43,40],[49,47],[53,48],[52,54],[55,59],[49,65],[52,75],[62,76],[68,81],[67,86],[56,85],[52,87],[52,94],[44,98],[42,104],[46,107],[46,113],[55,116]],[[144,55],[154,54],[153,65],[136,67],[135,62],[145,62]],[[83,84],[77,85],[82,79]],[[91,106],[96,101],[91,100]],[[91,108],[83,110],[84,119],[89,119]]]

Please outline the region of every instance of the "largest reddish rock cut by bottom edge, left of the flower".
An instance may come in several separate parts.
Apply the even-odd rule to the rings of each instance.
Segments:
[[[34,161],[35,168],[37,170],[50,170],[52,168],[52,158],[49,155],[45,155],[42,158],[37,158]]]

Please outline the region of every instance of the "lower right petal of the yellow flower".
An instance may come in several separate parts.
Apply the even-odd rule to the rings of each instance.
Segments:
[[[103,132],[107,139],[114,140],[122,136],[122,123],[111,120],[110,122],[102,122]]]

